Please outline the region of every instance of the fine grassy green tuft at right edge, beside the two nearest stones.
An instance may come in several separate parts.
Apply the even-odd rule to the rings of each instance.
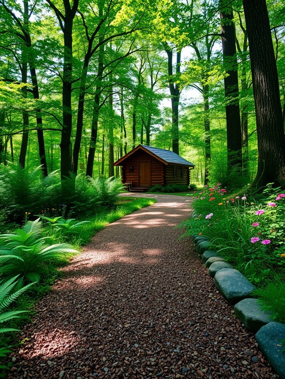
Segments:
[[[276,276],[255,290],[261,309],[270,312],[272,319],[285,324],[285,278]]]

